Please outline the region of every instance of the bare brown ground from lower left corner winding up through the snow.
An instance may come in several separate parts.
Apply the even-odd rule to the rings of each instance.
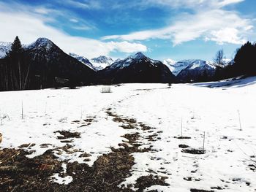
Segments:
[[[115,118],[116,121],[121,122],[123,128],[136,130],[141,128],[143,131],[153,129],[138,124],[134,119],[122,118],[111,112],[110,109],[106,113]],[[91,121],[93,120],[86,120],[88,123]],[[79,122],[74,121],[73,123]],[[61,134],[57,137],[57,139],[61,139],[61,142],[72,142],[72,139],[80,138],[78,132],[56,131],[56,133]],[[47,150],[43,155],[35,158],[27,158],[26,155],[29,153],[23,149],[0,150],[0,191],[132,191],[130,188],[132,186],[118,186],[132,175],[131,169],[135,164],[132,153],[143,153],[149,150],[153,151],[153,149],[139,148],[142,145],[139,132],[125,134],[123,137],[127,140],[119,144],[118,149],[111,148],[111,153],[99,156],[91,167],[87,164],[68,163],[57,159],[54,154],[80,152],[68,143],[63,147]],[[154,140],[155,137],[157,134],[152,134],[148,140]],[[45,143],[40,147],[48,147],[49,145]],[[20,147],[30,146],[31,144],[26,144]],[[90,156],[84,152],[80,155],[81,158],[85,158],[84,161],[90,161]],[[67,165],[67,172],[63,172],[61,167],[63,163]],[[55,173],[58,173],[59,177],[71,176],[72,182],[68,185],[53,183],[51,176]],[[143,191],[151,185],[167,185],[165,179],[166,177],[153,176],[153,174],[140,177],[135,188],[138,188],[138,191]]]

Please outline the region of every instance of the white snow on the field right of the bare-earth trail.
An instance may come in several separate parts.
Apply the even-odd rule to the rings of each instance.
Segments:
[[[227,191],[241,191],[241,188],[244,191],[254,191],[255,173],[247,166],[249,155],[254,155],[256,151],[256,136],[252,134],[256,124],[255,94],[255,85],[227,90],[173,85],[171,89],[140,94],[136,96],[137,99],[134,98],[135,104],[130,101],[122,102],[116,107],[118,113],[139,119],[163,131],[161,139],[151,143],[159,150],[157,153],[134,154],[136,164],[133,166],[133,174],[124,184],[135,183],[138,177],[148,174],[147,169],[157,172],[164,167],[167,173],[163,175],[171,174],[167,180],[170,186],[156,187],[159,190],[210,190],[210,187],[227,185]],[[239,130],[238,110],[243,131]],[[181,118],[184,120],[183,134],[192,139],[174,138],[181,135]],[[179,144],[202,147],[204,131],[206,154],[181,153]],[[224,137],[227,139],[222,139]],[[159,161],[151,161],[156,157],[160,158]],[[191,171],[194,170],[197,172],[192,174]],[[185,181],[184,177],[195,177],[200,181]],[[236,178],[239,178],[238,182],[233,181]],[[221,180],[230,183],[223,183]],[[245,181],[250,185],[247,186]]]

